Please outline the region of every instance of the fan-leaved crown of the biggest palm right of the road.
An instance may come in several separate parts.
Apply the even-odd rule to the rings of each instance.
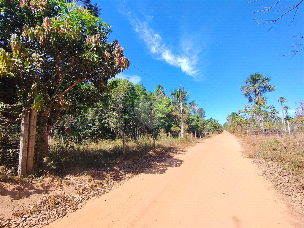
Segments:
[[[250,74],[245,81],[245,85],[240,86],[240,90],[245,97],[248,97],[248,102],[257,102],[266,100],[264,94],[266,92],[275,91],[275,86],[269,85],[270,77],[264,77],[261,73]]]

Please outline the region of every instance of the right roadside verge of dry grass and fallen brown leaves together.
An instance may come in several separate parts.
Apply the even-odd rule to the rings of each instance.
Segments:
[[[304,207],[304,134],[244,136],[240,140],[244,157],[253,158],[265,177],[285,195],[291,209]]]

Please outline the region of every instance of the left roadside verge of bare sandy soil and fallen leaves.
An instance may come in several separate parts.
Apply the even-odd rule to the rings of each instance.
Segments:
[[[179,147],[185,149],[191,144]],[[0,227],[35,228],[49,224],[117,188],[134,175],[172,158],[181,151],[178,148],[157,148],[143,157],[133,157],[110,167],[73,169],[61,173],[61,176],[47,175],[43,178],[1,182]]]

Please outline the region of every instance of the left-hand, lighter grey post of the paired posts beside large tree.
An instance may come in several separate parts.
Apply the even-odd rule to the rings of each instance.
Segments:
[[[29,141],[29,107],[23,107],[23,115],[21,119],[21,137],[19,148],[19,165],[18,174],[26,176],[26,159],[27,147]]]

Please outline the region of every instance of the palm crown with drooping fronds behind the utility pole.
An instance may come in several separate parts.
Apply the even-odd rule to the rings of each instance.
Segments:
[[[191,101],[188,102],[189,99],[189,91],[182,89],[182,92],[180,89],[172,89],[170,92],[170,98],[172,100],[172,104],[175,106],[177,110],[181,110],[180,104],[182,101],[183,109],[186,109],[187,111],[191,113],[197,112],[197,101]]]

